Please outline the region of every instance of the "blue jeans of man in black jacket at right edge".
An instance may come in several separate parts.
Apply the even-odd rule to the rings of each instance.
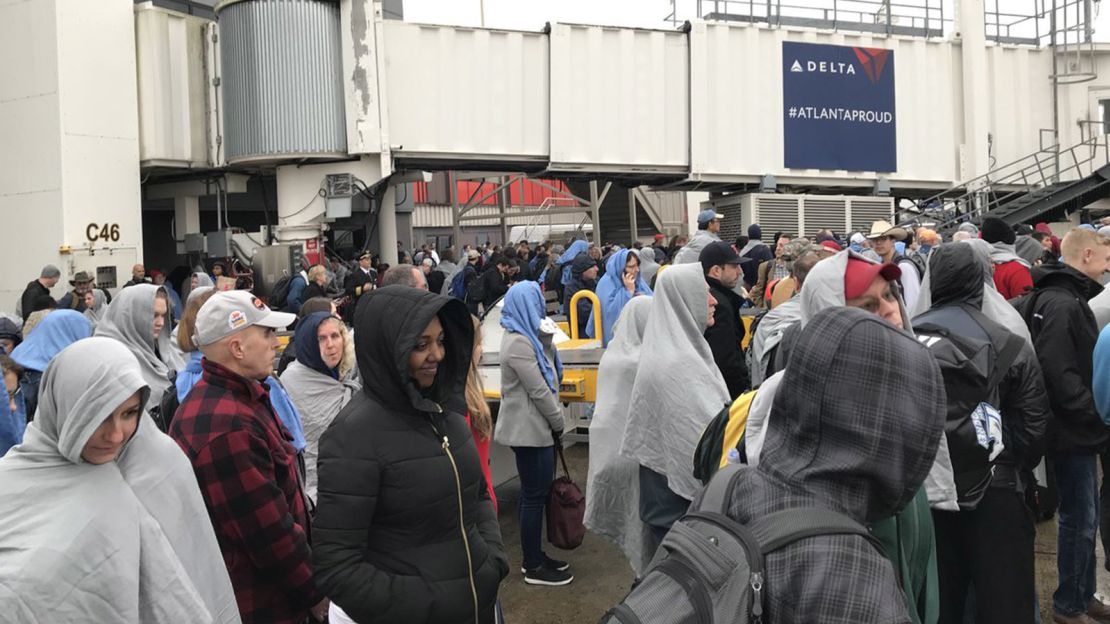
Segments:
[[[1056,567],[1060,584],[1052,608],[1067,616],[1087,612],[1094,597],[1094,533],[1099,529],[1098,455],[1058,454],[1056,486],[1060,491]]]

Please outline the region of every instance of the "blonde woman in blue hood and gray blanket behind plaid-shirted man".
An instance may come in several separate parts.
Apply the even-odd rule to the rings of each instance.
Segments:
[[[304,427],[304,491],[313,503],[316,501],[320,437],[351,396],[362,389],[352,375],[344,378],[340,373],[350,342],[351,334],[339,316],[331,312],[313,312],[297,323],[293,335],[296,361],[281,374],[281,383]]]

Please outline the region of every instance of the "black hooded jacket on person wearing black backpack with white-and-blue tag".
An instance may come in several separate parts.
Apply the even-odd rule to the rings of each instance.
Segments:
[[[944,245],[934,250],[929,258],[932,306],[915,318],[914,324],[931,323],[957,335],[990,342],[996,358],[1008,342],[1022,340],[982,313],[989,270],[976,259],[971,245]],[[995,463],[1032,470],[1045,453],[1051,417],[1045,379],[1032,345],[1026,343],[1010,364],[998,385],[998,396],[1005,450]],[[1011,480],[997,484],[1013,485]]]

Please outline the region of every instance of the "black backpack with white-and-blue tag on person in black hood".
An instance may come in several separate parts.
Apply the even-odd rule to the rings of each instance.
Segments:
[[[989,339],[957,334],[938,324],[939,314],[944,313],[927,312],[918,316],[914,333],[940,365],[947,397],[945,435],[956,494],[961,510],[973,510],[990,485],[995,451],[991,443],[983,446],[989,432],[981,419],[976,422],[973,414],[987,414],[988,423],[998,416],[1000,422],[998,385],[1020,355],[1025,340],[1007,334],[1002,348],[996,349]]]

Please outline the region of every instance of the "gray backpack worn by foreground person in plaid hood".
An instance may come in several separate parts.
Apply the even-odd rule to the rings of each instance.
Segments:
[[[764,557],[816,535],[859,535],[882,545],[850,517],[799,507],[740,524],[727,515],[733,484],[748,466],[729,464],[713,476],[664,537],[647,571],[602,624],[749,624],[763,622]]]

